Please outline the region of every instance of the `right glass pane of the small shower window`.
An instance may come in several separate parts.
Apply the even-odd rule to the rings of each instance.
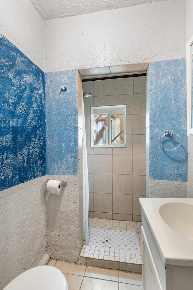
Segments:
[[[111,115],[111,144],[124,143],[124,115]]]

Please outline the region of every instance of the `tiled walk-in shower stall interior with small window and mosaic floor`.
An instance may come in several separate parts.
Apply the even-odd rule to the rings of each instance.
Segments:
[[[89,218],[88,242],[79,260],[141,272],[139,198],[146,197],[146,76],[83,79],[83,92],[87,92],[83,101]],[[116,106],[124,107],[125,115],[111,113]]]

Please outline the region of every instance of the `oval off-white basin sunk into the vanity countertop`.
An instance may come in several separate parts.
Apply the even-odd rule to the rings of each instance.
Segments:
[[[193,205],[169,202],[160,206],[160,216],[169,227],[183,237],[193,240]]]

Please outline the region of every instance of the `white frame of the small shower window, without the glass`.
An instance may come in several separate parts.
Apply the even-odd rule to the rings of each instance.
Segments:
[[[124,115],[124,142],[121,144],[107,144],[107,145],[94,145],[94,114],[109,114],[109,115],[120,115],[123,114]],[[125,148],[126,147],[126,105],[117,105],[117,106],[101,106],[101,107],[91,107],[91,133],[90,133],[90,145],[93,148],[112,148],[112,147],[121,147],[121,148]],[[110,118],[108,118],[108,135],[109,138],[108,140],[110,140]]]

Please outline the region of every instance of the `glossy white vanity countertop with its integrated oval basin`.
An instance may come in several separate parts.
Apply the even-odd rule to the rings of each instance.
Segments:
[[[193,266],[193,198],[140,198],[139,202],[144,229],[149,227],[163,263]]]

